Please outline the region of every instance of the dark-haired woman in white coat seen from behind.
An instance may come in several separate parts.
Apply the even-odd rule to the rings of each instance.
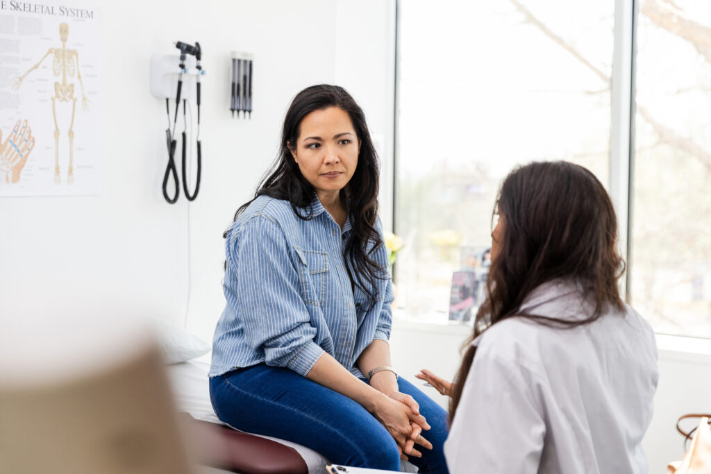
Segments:
[[[453,384],[451,473],[646,473],[654,333],[623,303],[617,223],[602,184],[565,161],[508,175],[487,297]]]

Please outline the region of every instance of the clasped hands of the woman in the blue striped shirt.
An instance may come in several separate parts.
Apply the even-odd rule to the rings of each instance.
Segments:
[[[399,394],[399,392],[396,393]],[[405,394],[400,395],[410,397]],[[422,457],[422,453],[413,447],[415,443],[427,449],[432,449],[432,444],[420,434],[423,429],[429,429],[429,424],[427,424],[424,416],[419,414],[419,406],[413,411],[410,405],[400,402],[394,397],[381,397],[378,403],[375,404],[373,415],[395,439],[397,447],[404,458],[407,458],[405,455],[415,456],[416,458]]]

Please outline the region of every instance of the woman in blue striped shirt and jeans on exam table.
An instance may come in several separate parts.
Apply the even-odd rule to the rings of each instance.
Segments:
[[[341,87],[299,92],[277,163],[225,233],[210,398],[225,423],[335,464],[400,470],[403,456],[447,473],[446,411],[390,367],[377,198],[363,110]]]

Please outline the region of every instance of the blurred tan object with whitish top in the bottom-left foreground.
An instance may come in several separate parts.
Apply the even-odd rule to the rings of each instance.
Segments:
[[[190,472],[151,330],[102,318],[3,324],[0,472]]]

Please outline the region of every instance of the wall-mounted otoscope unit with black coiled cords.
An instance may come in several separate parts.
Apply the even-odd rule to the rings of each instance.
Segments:
[[[175,163],[175,153],[176,153],[176,124],[178,123],[178,111],[181,105],[181,99],[183,101],[183,133],[182,133],[182,166],[181,171],[183,175],[183,192],[189,201],[194,200],[198,196],[198,191],[200,190],[200,178],[201,178],[201,168],[202,168],[202,146],[200,141],[200,103],[201,103],[201,77],[207,73],[202,67],[202,55],[203,51],[200,43],[196,42],[194,45],[189,43],[183,43],[177,41],[175,43],[176,48],[180,50],[180,55],[154,55],[151,58],[151,93],[155,97],[166,100],[166,113],[168,114],[168,128],[166,129],[166,148],[168,150],[168,166],[166,166],[166,173],[163,176],[163,197],[169,203],[176,203],[178,200],[178,195],[180,194],[180,184],[178,183],[178,170]],[[192,66],[192,58],[195,60],[194,67]],[[196,88],[195,95],[191,93],[187,87],[183,90],[183,82],[192,82],[193,77],[195,78]],[[177,83],[176,83],[177,82]],[[187,86],[187,85],[186,85]],[[173,126],[171,129],[171,111],[170,102],[171,98],[175,97],[175,114],[173,115]],[[190,181],[186,172],[187,163],[187,150],[191,148],[188,146],[187,130],[188,130],[188,117],[187,110],[189,108],[189,99],[196,99],[198,105],[198,134],[196,136],[197,149],[198,149],[198,167],[197,176],[195,183],[195,190],[190,193],[188,188],[188,182]],[[192,151],[192,148],[191,148]],[[168,182],[169,179],[173,178],[173,195],[168,193]]]

